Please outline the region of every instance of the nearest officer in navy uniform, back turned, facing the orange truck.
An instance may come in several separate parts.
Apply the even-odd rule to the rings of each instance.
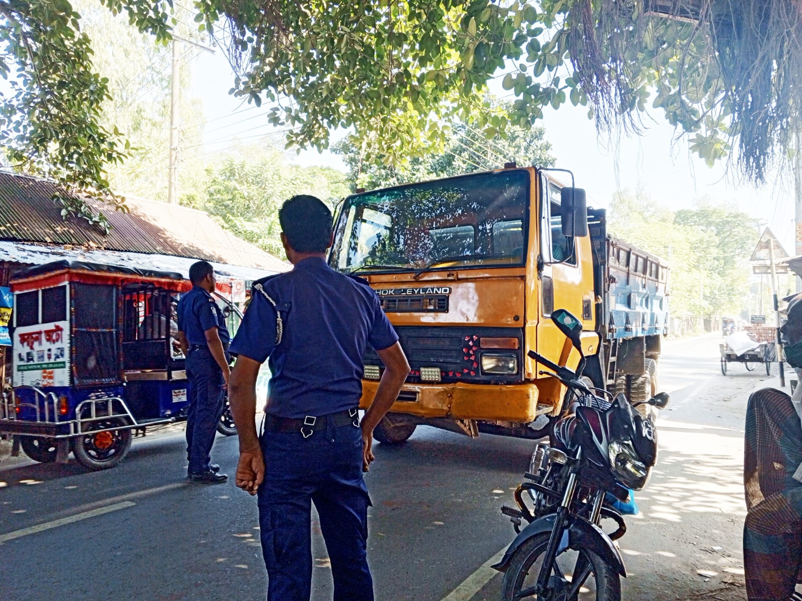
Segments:
[[[268,601],[310,599],[312,502],[331,561],[334,601],[372,601],[371,500],[363,471],[374,458],[373,430],[398,397],[409,364],[367,282],[326,264],[333,241],[326,205],[294,196],[279,221],[294,268],[253,285],[231,346],[237,354],[229,387],[240,438],[236,483],[258,495]],[[386,369],[360,424],[367,345]],[[272,378],[258,438],[255,385],[265,359]]]

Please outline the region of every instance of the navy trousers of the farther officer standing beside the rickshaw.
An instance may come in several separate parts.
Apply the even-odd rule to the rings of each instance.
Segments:
[[[220,365],[209,349],[194,349],[186,360],[189,386],[187,412],[188,471],[200,474],[209,470],[209,453],[212,451],[217,423],[225,405],[225,379]]]

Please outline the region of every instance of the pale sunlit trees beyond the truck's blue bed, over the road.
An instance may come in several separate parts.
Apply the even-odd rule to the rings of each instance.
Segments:
[[[711,317],[746,309],[748,260],[759,237],[746,213],[705,202],[673,212],[639,192],[617,194],[608,216],[614,236],[668,262],[671,313]]]

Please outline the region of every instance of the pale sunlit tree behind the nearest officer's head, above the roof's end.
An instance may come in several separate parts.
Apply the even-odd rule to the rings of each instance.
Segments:
[[[223,227],[283,257],[278,210],[296,194],[318,196],[331,208],[348,193],[345,175],[330,167],[300,167],[286,161],[285,152],[259,144],[237,147],[219,155],[206,168],[205,186],[181,198]]]

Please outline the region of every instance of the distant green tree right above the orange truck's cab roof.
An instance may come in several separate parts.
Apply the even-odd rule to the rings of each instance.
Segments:
[[[332,150],[342,156],[348,167],[351,190],[372,190],[395,184],[448,177],[504,167],[504,163],[550,167],[554,157],[551,144],[545,140],[542,127],[511,129],[506,138],[488,140],[471,124],[457,123],[448,128],[445,151],[424,157],[413,156],[397,162],[390,155],[374,155],[368,151],[372,143],[360,143],[350,136],[336,143]],[[388,164],[389,163],[389,164]]]

